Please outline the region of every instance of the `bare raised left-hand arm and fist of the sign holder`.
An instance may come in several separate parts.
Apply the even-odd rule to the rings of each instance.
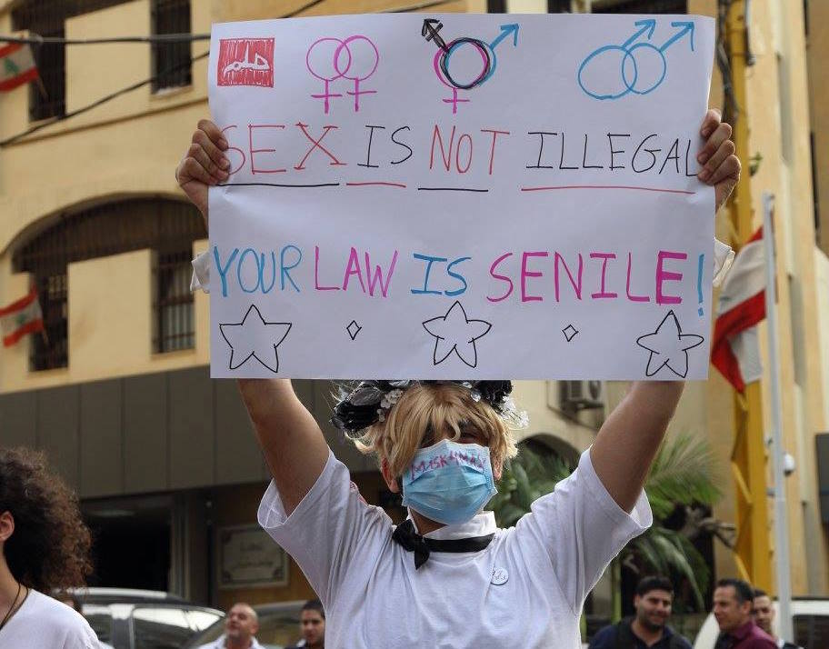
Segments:
[[[208,223],[207,190],[228,177],[227,142],[213,122],[198,123],[175,179]],[[314,417],[287,379],[240,379],[239,390],[253,421],[265,461],[290,515],[322,474],[328,445]]]

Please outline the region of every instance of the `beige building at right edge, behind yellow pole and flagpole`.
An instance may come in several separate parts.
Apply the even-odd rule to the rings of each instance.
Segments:
[[[517,2],[517,0],[515,0]],[[747,136],[742,143],[743,184],[750,203],[754,231],[762,225],[764,193],[774,195],[777,252],[778,353],[782,386],[784,451],[794,458],[794,473],[786,479],[792,593],[797,596],[829,594],[829,103],[826,101],[824,65],[829,5],[824,2],[717,2],[688,0],[580,0],[576,10],[638,13],[677,12],[686,5],[689,14],[720,15],[731,6],[744,16],[747,28],[735,33],[744,38],[747,63],[732,62],[733,75],[742,75],[746,99],[740,106]],[[726,79],[714,69],[710,105],[723,109]],[[739,133],[739,132],[738,132]],[[737,142],[738,151],[741,143]],[[824,209],[820,198],[824,197]],[[738,247],[731,225],[734,204],[717,215],[717,236]],[[762,429],[771,437],[772,415],[768,342],[760,326],[764,379]],[[686,390],[672,430],[707,434],[719,458],[725,497],[714,515],[726,523],[740,523],[735,507],[734,397],[730,385],[712,367],[707,384]],[[823,434],[823,436],[821,436]],[[767,507],[767,534],[771,552],[758,562],[774,564],[772,524],[773,480],[769,460],[765,488],[754,493],[755,506]],[[715,544],[714,574],[741,575],[734,554]],[[774,571],[772,571],[774,573]],[[774,574],[772,574],[774,579]],[[774,581],[772,582],[774,590]]]

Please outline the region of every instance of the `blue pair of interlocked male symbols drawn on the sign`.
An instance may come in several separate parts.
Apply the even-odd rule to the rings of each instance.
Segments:
[[[594,99],[619,99],[629,93],[647,95],[668,73],[665,50],[687,34],[694,51],[693,22],[672,22],[671,26],[679,29],[659,46],[650,42],[656,28],[654,18],[637,20],[634,26],[639,30],[622,45],[603,45],[582,61],[578,82],[587,95]],[[647,35],[647,42],[637,42],[643,35]]]

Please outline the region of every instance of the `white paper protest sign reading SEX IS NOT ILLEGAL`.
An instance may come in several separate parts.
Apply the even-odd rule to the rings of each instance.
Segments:
[[[211,373],[704,378],[714,21],[214,25]]]

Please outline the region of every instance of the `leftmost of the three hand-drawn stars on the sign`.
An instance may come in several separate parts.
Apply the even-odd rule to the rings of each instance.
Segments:
[[[253,356],[271,372],[279,370],[276,347],[291,331],[291,323],[268,323],[255,305],[250,305],[242,322],[219,325],[219,331],[230,347],[230,369],[245,364]]]

